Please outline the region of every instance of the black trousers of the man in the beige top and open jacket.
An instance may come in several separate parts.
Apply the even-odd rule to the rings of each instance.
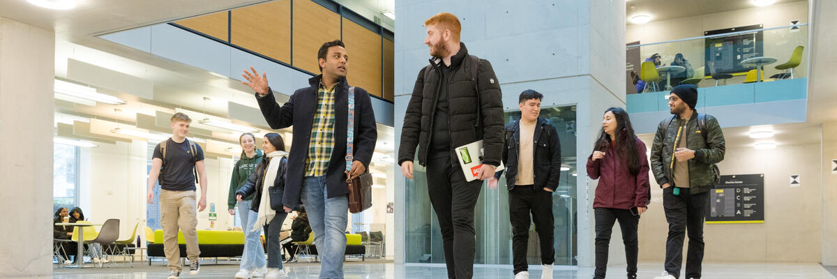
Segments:
[[[555,262],[555,220],[552,217],[552,192],[534,189],[533,185],[515,185],[509,191],[509,220],[511,220],[511,257],[514,274],[527,271],[526,246],[529,245],[529,227],[535,222],[535,230],[541,245],[541,263]]]

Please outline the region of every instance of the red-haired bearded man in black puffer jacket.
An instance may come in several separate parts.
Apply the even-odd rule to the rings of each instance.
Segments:
[[[491,64],[468,54],[460,21],[439,13],[424,22],[430,65],[419,71],[404,114],[398,164],[413,178],[413,158],[427,167],[430,203],[439,217],[449,278],[474,275],[474,208],[482,179],[494,176],[503,151],[500,81]],[[468,182],[454,148],[483,140],[477,179]]]

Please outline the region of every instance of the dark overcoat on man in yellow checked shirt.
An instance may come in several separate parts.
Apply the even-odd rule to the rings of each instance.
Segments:
[[[294,137],[291,142],[290,154],[288,155],[288,174],[285,180],[285,197],[282,204],[290,208],[296,208],[300,200],[300,189],[306,171],[306,156],[308,155],[308,142],[311,138],[311,126],[314,123],[314,114],[317,107],[317,90],[320,87],[322,75],[317,75],[308,80],[311,86],[300,88],[290,96],[290,100],[279,106],[270,90],[268,95],[262,97],[256,94],[259,101],[264,120],[271,128],[281,129],[293,125]],[[326,170],[326,187],[328,198],[339,197],[349,194],[346,183],[346,128],[348,114],[349,84],[345,78],[341,78],[336,88],[334,108],[334,149],[331,151],[331,160]],[[375,124],[375,113],[372,111],[372,101],[366,90],[360,87],[355,89],[355,144],[354,160],[363,163],[369,169],[369,162],[372,161],[372,152],[375,150],[377,141],[377,127]]]

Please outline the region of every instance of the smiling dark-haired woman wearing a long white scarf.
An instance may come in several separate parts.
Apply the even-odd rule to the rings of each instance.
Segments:
[[[285,216],[290,208],[282,204],[285,193],[285,170],[288,168],[285,142],[282,137],[271,132],[264,135],[262,141],[264,158],[256,166],[255,171],[247,179],[247,183],[235,192],[235,199],[241,202],[244,198],[254,194],[253,205],[250,210],[256,212],[254,220],[244,231],[259,230],[264,226],[264,239],[267,241],[267,279],[286,277],[282,271],[282,245],[280,245],[280,230]],[[273,204],[277,204],[274,207]]]

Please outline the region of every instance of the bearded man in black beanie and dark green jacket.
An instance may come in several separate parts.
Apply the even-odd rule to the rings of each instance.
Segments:
[[[674,116],[660,122],[651,147],[651,170],[663,189],[663,209],[669,223],[665,271],[655,279],[680,278],[686,231],[686,278],[701,278],[706,204],[719,174],[715,164],[724,159],[726,147],[716,118],[697,113],[696,105],[695,85],[677,85],[671,90],[669,109]]]

